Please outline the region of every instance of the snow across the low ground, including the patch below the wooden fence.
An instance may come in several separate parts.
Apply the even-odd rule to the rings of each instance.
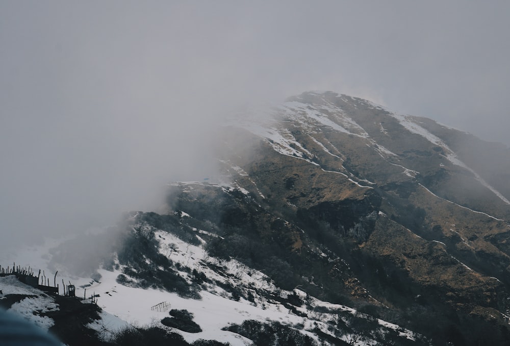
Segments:
[[[212,235],[203,230],[195,230],[198,234]],[[235,301],[230,293],[211,283],[203,286],[206,290],[200,291],[200,300],[184,299],[176,293],[158,289],[122,286],[116,282],[117,276],[121,274],[120,270],[99,269],[100,282],[91,281],[89,278],[74,278],[73,283],[77,286],[77,296],[83,295],[83,289],[80,289],[81,285],[88,285],[87,292],[95,292],[99,295],[97,304],[103,309],[103,312],[100,314],[100,318],[89,323],[88,327],[98,331],[104,340],[111,339],[116,331],[131,325],[140,327],[158,326],[168,329],[160,321],[162,318],[169,316],[169,309],[186,309],[194,314],[194,321],[201,327],[202,332],[186,333],[172,330],[179,332],[188,342],[197,339],[215,339],[229,342],[233,346],[249,345],[252,341],[236,333],[221,329],[231,324],[242,324],[246,319],[256,319],[263,323],[276,321],[291,327],[304,326],[304,329],[298,327],[298,330],[318,340],[317,335],[307,331],[307,329],[312,330],[317,327],[323,332],[331,334],[326,322],[336,318],[336,314],[333,312],[330,314],[315,313],[313,307],[323,306],[331,309],[341,309],[352,314],[357,313],[354,309],[346,306],[322,302],[311,296],[307,297],[306,293],[295,289],[294,292],[302,298],[307,297],[308,304],[312,306],[312,310],[297,307],[302,313],[308,314],[308,317],[295,315],[282,304],[268,300],[264,295],[259,294],[260,292],[267,292],[285,297],[292,293],[292,291],[277,289],[274,283],[260,271],[249,268],[236,260],[223,261],[210,257],[201,246],[188,244],[167,232],[156,231],[155,235],[156,239],[160,241],[160,253],[169,257],[174,263],[179,262],[189,268],[201,271],[212,282],[219,281],[232,286],[243,287],[245,290],[248,289],[254,295],[254,303],[243,298],[240,301]],[[170,248],[171,251],[168,251]],[[44,250],[40,249],[37,252],[43,253]],[[41,260],[38,263],[41,263]],[[221,270],[212,270],[208,264],[219,266]],[[191,280],[184,271],[180,271],[180,275],[187,280]],[[13,304],[12,310],[31,319],[45,329],[53,326],[54,322],[51,318],[34,314],[35,310],[45,312],[58,309],[57,304],[49,296],[36,288],[20,283],[14,276],[0,278],[0,285],[5,294],[36,295],[36,297],[25,298],[21,302]],[[151,309],[152,306],[161,302],[170,304],[167,311]],[[387,324],[385,322],[380,323],[385,326]],[[349,337],[353,336],[344,336],[346,339]],[[370,341],[370,344],[373,344],[372,341]]]

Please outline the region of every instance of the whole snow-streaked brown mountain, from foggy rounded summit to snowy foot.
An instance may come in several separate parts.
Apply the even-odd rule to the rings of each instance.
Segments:
[[[220,175],[52,251],[48,270],[98,294],[97,343],[510,341],[506,146],[334,92],[243,112],[220,137]],[[86,241],[110,255],[70,269]],[[110,314],[138,326],[114,332]]]

